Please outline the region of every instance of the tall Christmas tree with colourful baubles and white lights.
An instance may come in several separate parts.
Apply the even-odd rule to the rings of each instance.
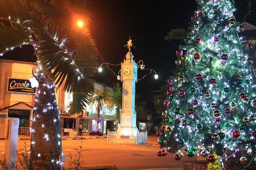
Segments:
[[[216,153],[222,163],[241,156],[236,157],[241,166],[254,166],[252,45],[238,36],[243,27],[234,17],[234,0],[196,1],[186,45],[176,51],[176,74],[168,79],[158,156],[170,152],[180,160],[184,147],[188,157],[200,154],[212,163]]]

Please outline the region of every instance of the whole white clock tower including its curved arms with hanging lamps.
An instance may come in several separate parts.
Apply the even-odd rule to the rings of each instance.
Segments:
[[[129,137],[129,140],[134,140],[134,142],[138,143],[138,129],[136,127],[136,112],[135,112],[135,85],[138,80],[145,78],[147,75],[154,72],[154,78],[158,79],[158,74],[153,69],[146,69],[142,60],[137,63],[133,59],[133,55],[131,52],[132,40],[129,39],[128,44],[128,53],[126,54],[126,58],[120,64],[110,64],[110,63],[102,63],[98,68],[98,72],[102,72],[102,65],[106,64],[109,68],[111,66],[119,66],[121,65],[121,69],[118,71],[118,74],[109,68],[113,74],[116,76],[117,80],[121,80],[123,82],[123,93],[122,93],[122,112],[121,112],[121,121],[120,127],[117,129],[117,138]],[[150,72],[143,76],[142,78],[137,78],[138,68],[141,70],[149,70]],[[120,140],[122,143],[122,140]]]

